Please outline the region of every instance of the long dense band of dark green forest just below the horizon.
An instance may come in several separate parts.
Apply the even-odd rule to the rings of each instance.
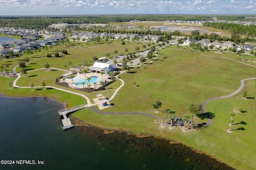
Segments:
[[[1,27],[20,27],[27,29],[43,28],[52,23],[111,23],[139,21],[166,21],[166,20],[208,20],[210,16],[201,15],[92,15],[92,16],[2,16],[0,17]]]

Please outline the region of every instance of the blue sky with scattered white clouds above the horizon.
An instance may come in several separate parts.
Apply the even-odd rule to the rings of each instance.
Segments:
[[[0,16],[256,14],[256,0],[0,0]]]

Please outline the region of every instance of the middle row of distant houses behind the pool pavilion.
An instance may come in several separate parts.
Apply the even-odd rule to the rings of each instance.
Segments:
[[[92,38],[96,38],[96,37],[101,37],[101,38],[105,38],[106,36],[111,36],[111,37],[114,37],[115,39],[118,39],[118,38],[122,38],[122,39],[127,39],[128,37],[130,37],[130,39],[133,39],[133,38],[136,38],[138,37],[138,39],[143,39],[143,40],[148,40],[148,39],[151,39],[152,41],[157,41],[159,39],[159,35],[138,35],[138,34],[122,34],[122,33],[95,33],[95,32],[81,32],[81,33],[78,33],[78,32],[73,32],[72,33],[72,36],[70,37],[70,39],[84,39],[86,41],[92,39]]]

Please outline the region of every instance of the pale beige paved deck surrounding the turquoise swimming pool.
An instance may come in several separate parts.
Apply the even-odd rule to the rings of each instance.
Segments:
[[[99,79],[102,79],[102,78],[104,78],[104,77],[106,77],[106,78],[108,78],[109,76],[108,76],[108,74],[102,74],[102,76],[101,76],[101,74],[100,73],[96,73],[96,72],[88,72],[88,73],[86,73],[85,74],[86,75],[86,77],[84,76],[84,74],[82,73],[82,74],[80,74],[79,72],[76,74],[76,75],[74,75],[74,76],[79,76],[80,78],[83,78],[84,80],[86,80],[86,78],[88,78],[88,77],[91,77],[91,76],[98,76],[99,78],[98,78],[98,80]],[[62,79],[60,80],[61,82],[62,82]],[[72,80],[71,79],[69,79],[69,78],[66,78],[65,79],[65,81],[66,81],[66,83],[68,83],[68,85],[69,85],[69,87],[70,88],[83,88],[83,86],[76,86],[76,81],[74,81],[73,80],[73,83],[72,83]],[[109,79],[107,80],[107,81],[110,81]],[[90,87],[91,88],[95,88],[95,86],[94,86],[94,84],[93,83],[91,83],[90,82]],[[96,84],[96,88],[99,88],[101,85],[100,85],[100,83],[97,83]],[[84,88],[86,88],[86,87],[88,87],[87,86],[87,84],[84,84]]]

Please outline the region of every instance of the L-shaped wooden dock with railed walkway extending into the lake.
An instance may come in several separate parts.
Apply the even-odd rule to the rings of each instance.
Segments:
[[[83,109],[83,108],[85,108],[84,104],[80,105],[80,106],[72,107],[72,108],[69,108],[69,109],[62,109],[62,110],[58,111],[59,115],[63,116],[63,118],[64,118],[64,119],[62,119],[63,130],[74,127],[74,125],[71,123],[70,119],[67,117],[67,114],[70,113],[70,112],[79,110],[79,109]]]

